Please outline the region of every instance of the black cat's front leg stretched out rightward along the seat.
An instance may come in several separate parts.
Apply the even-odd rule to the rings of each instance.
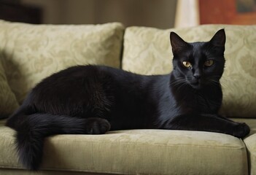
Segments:
[[[246,123],[236,123],[214,114],[180,115],[166,123],[164,128],[226,133],[238,138],[244,138],[250,131]]]

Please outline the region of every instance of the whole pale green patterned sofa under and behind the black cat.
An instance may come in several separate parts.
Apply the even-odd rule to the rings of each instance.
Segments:
[[[44,141],[38,172],[18,163],[6,117],[44,77],[69,66],[96,64],[138,74],[171,71],[170,31],[208,41],[225,28],[220,114],[247,123],[244,139],[200,131],[128,130],[57,135]],[[193,28],[31,25],[0,20],[0,174],[256,174],[256,26]]]

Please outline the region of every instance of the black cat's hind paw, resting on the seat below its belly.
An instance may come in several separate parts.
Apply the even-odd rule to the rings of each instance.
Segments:
[[[110,123],[102,118],[88,118],[85,128],[87,134],[102,134],[110,130]]]

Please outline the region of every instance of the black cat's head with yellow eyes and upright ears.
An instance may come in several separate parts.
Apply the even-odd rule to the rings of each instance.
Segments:
[[[195,89],[206,85],[219,85],[224,71],[225,31],[217,31],[209,42],[185,42],[171,32],[174,55],[173,74],[177,81],[185,82]]]

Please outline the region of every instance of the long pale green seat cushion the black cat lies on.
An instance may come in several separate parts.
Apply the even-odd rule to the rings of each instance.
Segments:
[[[15,152],[14,134],[15,131],[1,124],[0,167],[3,171],[23,169]],[[247,149],[236,137],[199,131],[129,130],[104,135],[57,135],[45,139],[42,170],[102,174],[247,174]]]

